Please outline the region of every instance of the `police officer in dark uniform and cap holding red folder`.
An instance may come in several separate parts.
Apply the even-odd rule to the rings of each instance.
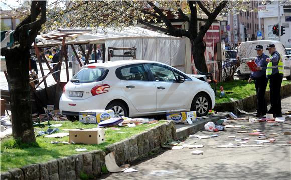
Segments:
[[[267,69],[267,62],[266,59],[269,58],[267,55],[264,54],[262,45],[256,46],[257,57],[254,60],[257,64],[255,68],[257,71],[251,73],[248,83],[251,80],[254,80],[255,87],[256,87],[256,96],[257,96],[257,114],[256,117],[260,117],[266,114],[267,110],[267,103],[265,100],[265,92],[268,84],[268,79],[266,78],[266,69]]]

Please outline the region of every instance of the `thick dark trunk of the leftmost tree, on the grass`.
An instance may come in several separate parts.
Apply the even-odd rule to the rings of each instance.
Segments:
[[[15,139],[22,143],[36,142],[31,117],[31,95],[29,84],[29,49],[14,45],[7,49],[5,61],[10,92],[12,129]]]

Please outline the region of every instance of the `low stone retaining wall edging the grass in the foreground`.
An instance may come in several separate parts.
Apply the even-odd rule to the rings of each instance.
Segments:
[[[20,169],[10,169],[8,172],[1,173],[0,179],[73,180],[80,179],[82,172],[88,176],[98,177],[102,174],[101,167],[105,166],[106,154],[115,152],[116,163],[120,166],[147,156],[149,152],[158,150],[163,143],[171,139],[176,139],[176,127],[174,122],[168,121],[109,145],[105,151],[96,150],[47,163],[27,165]]]

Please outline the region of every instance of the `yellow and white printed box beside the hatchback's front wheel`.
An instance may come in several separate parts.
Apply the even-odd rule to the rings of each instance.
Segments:
[[[196,111],[169,111],[166,113],[167,120],[173,120],[175,122],[187,123],[187,119],[196,121]]]

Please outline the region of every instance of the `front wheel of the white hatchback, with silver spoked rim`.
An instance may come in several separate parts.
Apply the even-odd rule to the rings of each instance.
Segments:
[[[191,111],[196,111],[197,116],[205,116],[211,108],[211,100],[205,93],[198,93],[191,104]]]

